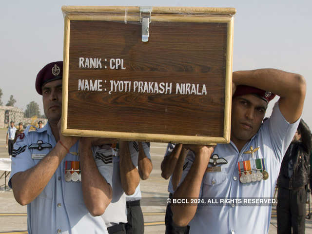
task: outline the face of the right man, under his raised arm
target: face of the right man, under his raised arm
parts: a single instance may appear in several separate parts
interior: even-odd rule
[[[245,144],[259,130],[268,104],[253,94],[232,100],[231,140]]]

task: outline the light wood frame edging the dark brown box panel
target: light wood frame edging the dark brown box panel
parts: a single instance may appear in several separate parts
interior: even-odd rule
[[[172,142],[184,144],[229,143],[231,135],[232,106],[232,65],[233,65],[233,28],[235,8],[210,7],[153,7],[151,20],[166,22],[218,22],[227,23],[227,55],[225,78],[225,105],[223,137],[181,136],[165,134],[144,134],[128,132],[108,132],[94,130],[77,130],[67,128],[68,110],[68,73],[69,41],[71,20],[101,21],[139,21],[139,7],[136,6],[63,6],[64,14],[64,65],[63,65],[63,99],[61,132],[65,136],[108,137],[121,140],[139,140],[151,142]],[[108,13],[116,15],[107,15]],[[188,13],[188,15],[182,15]],[[179,14],[179,15],[177,15]]]

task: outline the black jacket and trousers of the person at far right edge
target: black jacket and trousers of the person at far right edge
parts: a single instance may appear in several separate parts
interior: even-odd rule
[[[292,142],[277,179],[277,233],[304,234],[307,186],[310,179],[311,132],[301,119],[301,141]]]

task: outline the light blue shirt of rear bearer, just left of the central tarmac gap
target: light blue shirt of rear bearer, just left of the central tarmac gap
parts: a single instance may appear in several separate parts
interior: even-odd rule
[[[151,159],[150,155],[150,143],[142,142],[143,150],[147,158]],[[130,141],[129,142],[129,150],[131,155],[132,163],[135,167],[137,167],[137,160],[138,160],[138,142],[137,141]],[[142,198],[140,184],[137,185],[136,191],[133,195],[126,195],[127,201],[136,201]]]

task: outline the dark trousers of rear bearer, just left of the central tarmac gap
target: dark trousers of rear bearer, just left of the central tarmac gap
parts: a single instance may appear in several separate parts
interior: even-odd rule
[[[127,201],[127,221],[125,228],[127,234],[143,234],[144,219],[140,201]]]

